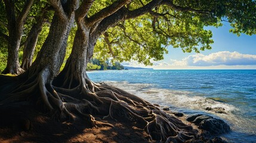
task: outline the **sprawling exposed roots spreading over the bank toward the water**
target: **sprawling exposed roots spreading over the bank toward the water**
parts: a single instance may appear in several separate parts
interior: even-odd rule
[[[42,70],[38,76],[16,82],[15,90],[10,88],[11,92],[1,95],[0,105],[30,101],[57,119],[82,120],[89,127],[112,126],[101,120],[129,122],[144,129],[152,140],[157,141],[184,142],[197,138],[198,131],[192,126],[185,125],[181,120],[135,95],[112,86],[93,83],[89,79],[84,80],[85,84],[65,83],[77,85],[75,87],[53,86],[45,80],[48,73],[48,70]]]

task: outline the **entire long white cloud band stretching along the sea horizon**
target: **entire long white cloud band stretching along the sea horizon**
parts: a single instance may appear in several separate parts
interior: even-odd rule
[[[221,51],[209,55],[189,55],[182,60],[170,59],[152,61],[153,69],[256,69],[256,55],[240,54],[239,52]],[[124,66],[145,67],[137,61],[122,63]]]

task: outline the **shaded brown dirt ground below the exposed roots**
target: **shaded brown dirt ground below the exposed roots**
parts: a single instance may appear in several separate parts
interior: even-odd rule
[[[129,123],[109,120],[113,127],[88,128],[61,122],[32,107],[0,107],[0,142],[150,142],[149,135]]]

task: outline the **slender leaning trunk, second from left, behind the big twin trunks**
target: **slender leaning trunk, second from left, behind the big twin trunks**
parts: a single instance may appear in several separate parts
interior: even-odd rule
[[[23,57],[21,63],[21,69],[27,70],[32,64],[33,55],[35,52],[36,42],[38,41],[38,36],[42,30],[44,21],[39,19],[35,24],[33,24],[30,29],[29,35],[27,35],[26,42],[24,43]]]

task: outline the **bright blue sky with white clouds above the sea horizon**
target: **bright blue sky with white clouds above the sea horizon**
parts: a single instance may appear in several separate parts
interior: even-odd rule
[[[124,66],[150,67],[153,69],[256,69],[256,35],[237,36],[229,32],[229,23],[222,27],[206,27],[212,31],[214,43],[211,50],[184,53],[181,48],[168,46],[168,54],[162,61],[152,61],[153,66],[144,66],[135,61]]]

